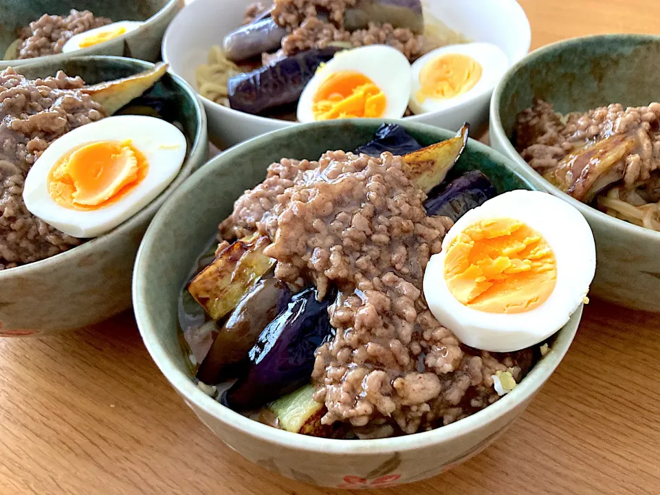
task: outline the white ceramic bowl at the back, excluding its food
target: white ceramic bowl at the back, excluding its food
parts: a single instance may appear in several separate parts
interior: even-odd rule
[[[163,59],[171,70],[197,87],[195,68],[206,63],[208,50],[222,45],[225,34],[243,23],[245,7],[252,0],[195,0],[181,10],[170,24],[163,39]],[[270,1],[262,3],[268,4]],[[516,0],[433,0],[425,8],[450,28],[472,41],[493,43],[509,57],[511,64],[529,51],[529,21]],[[491,92],[467,101],[453,109],[414,115],[406,122],[420,122],[458,129],[470,122],[472,135],[485,130]],[[208,115],[209,137],[220,148],[233,146],[250,137],[294,125],[294,122],[250,115],[223,107],[202,98]]]

